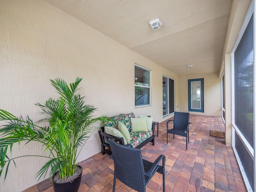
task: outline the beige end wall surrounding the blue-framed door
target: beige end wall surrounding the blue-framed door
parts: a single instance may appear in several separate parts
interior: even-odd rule
[[[218,73],[207,73],[180,77],[180,111],[188,112],[188,79],[204,78],[204,113],[197,115],[221,116],[221,79]]]

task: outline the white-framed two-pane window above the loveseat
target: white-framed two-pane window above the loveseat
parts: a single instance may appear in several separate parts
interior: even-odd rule
[[[150,105],[150,70],[135,65],[135,107]]]

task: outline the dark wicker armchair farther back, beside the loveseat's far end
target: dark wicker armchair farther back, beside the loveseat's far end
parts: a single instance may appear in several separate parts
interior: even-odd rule
[[[168,129],[169,123],[173,121],[173,129]],[[174,120],[169,120],[166,123],[167,125],[167,145],[168,145],[168,133],[174,135],[180,135],[186,137],[186,151],[188,150],[188,143],[189,143],[189,113],[182,113],[182,112],[174,112]]]

